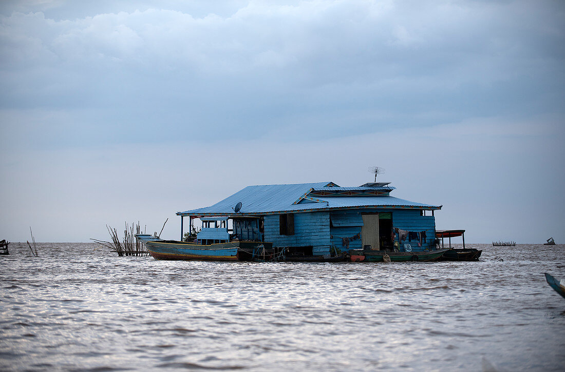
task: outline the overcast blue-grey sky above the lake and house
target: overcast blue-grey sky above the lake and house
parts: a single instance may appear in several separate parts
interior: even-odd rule
[[[0,61],[0,239],[378,165],[466,242],[565,243],[562,1],[5,0]]]

